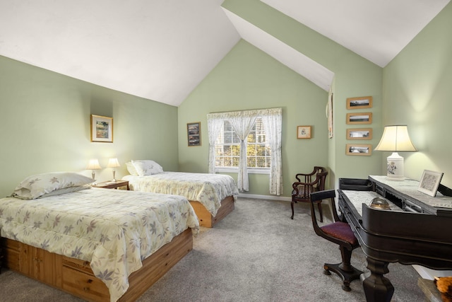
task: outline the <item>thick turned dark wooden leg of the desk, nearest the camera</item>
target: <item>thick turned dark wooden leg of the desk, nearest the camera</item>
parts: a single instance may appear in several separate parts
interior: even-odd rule
[[[383,276],[389,272],[388,265],[388,262],[367,257],[367,268],[370,269],[371,274],[362,281],[367,302],[391,301],[394,286],[388,278]]]

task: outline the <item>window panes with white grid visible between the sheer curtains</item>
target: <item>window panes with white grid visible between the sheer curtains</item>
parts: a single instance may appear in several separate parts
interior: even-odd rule
[[[253,129],[247,137],[247,167],[253,170],[270,168],[270,146],[266,142],[261,117],[256,119]],[[224,121],[215,142],[215,170],[236,170],[239,166],[240,139],[232,129],[230,122]]]

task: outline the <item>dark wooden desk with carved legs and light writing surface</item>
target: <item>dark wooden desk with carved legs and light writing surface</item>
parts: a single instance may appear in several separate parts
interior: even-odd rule
[[[371,191],[338,190],[338,206],[367,258],[367,301],[391,301],[394,287],[383,276],[390,262],[452,269],[452,197],[418,192],[415,180],[369,180]],[[388,200],[391,210],[369,207],[375,197]]]

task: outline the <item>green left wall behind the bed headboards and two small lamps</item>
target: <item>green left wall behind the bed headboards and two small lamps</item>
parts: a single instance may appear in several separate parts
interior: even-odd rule
[[[0,197],[28,175],[85,170],[90,158],[112,179],[109,157],[150,159],[177,170],[177,108],[119,93],[0,56]],[[113,117],[114,142],[90,142],[90,115]]]

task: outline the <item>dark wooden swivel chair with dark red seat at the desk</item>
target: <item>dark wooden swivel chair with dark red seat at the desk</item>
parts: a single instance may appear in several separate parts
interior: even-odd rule
[[[349,224],[340,221],[336,212],[334,197],[334,190],[314,192],[311,194],[312,225],[317,235],[339,245],[340,255],[342,256],[342,262],[336,265],[325,263],[323,265],[323,273],[331,274],[330,271],[335,272],[343,279],[342,289],[344,291],[351,291],[350,282],[359,279],[359,276],[362,274],[362,271],[352,267],[350,264],[352,251],[355,248],[359,248],[359,243]],[[330,200],[334,222],[325,226],[319,226],[316,219],[316,211],[314,211],[314,204],[318,204],[323,199]]]

